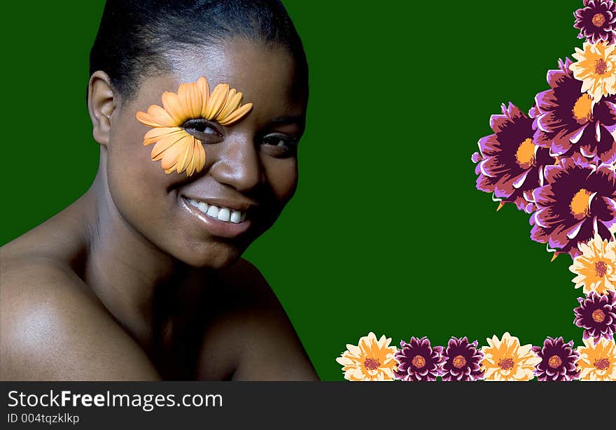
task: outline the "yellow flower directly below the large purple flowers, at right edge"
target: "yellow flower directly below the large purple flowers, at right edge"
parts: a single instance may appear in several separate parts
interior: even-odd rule
[[[582,254],[569,266],[569,270],[577,275],[572,280],[575,288],[584,287],[584,294],[616,291],[616,241],[595,234],[591,241],[579,243],[577,248]]]

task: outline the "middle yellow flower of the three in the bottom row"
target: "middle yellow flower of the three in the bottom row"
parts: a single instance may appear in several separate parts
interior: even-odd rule
[[[487,341],[489,346],[482,347],[484,358],[481,361],[485,380],[527,381],[534,378],[535,366],[541,359],[533,352],[533,345],[520,346],[519,339],[507,332],[502,341],[496,335]]]

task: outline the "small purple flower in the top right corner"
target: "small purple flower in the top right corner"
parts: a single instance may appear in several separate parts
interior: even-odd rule
[[[611,45],[616,33],[616,8],[612,0],[584,0],[585,8],[575,10],[575,24],[580,29],[577,38],[586,38],[590,43],[603,41]]]

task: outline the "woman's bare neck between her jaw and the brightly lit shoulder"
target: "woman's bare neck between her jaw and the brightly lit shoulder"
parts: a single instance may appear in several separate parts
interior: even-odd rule
[[[147,349],[155,336],[155,320],[160,318],[154,315],[155,304],[160,306],[157,297],[162,294],[170,299],[168,294],[190,272],[188,266],[156,248],[123,219],[111,199],[103,163],[85,197],[92,213],[87,217],[90,250],[84,280]],[[171,313],[172,300],[163,302],[167,307],[163,312]]]

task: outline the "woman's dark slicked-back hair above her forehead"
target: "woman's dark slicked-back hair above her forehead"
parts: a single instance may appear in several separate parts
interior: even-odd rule
[[[306,80],[302,41],[279,0],[107,0],[90,51],[90,76],[105,71],[130,99],[139,78],[169,71],[167,52],[234,36],[287,48],[297,78]]]

